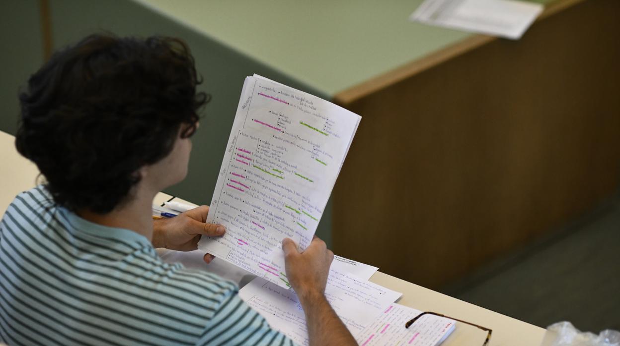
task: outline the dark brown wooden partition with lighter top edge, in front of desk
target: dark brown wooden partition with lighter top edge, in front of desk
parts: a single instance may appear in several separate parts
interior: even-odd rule
[[[338,95],[362,120],[334,189],[335,253],[434,288],[612,196],[619,13],[564,1],[520,41],[475,37]]]

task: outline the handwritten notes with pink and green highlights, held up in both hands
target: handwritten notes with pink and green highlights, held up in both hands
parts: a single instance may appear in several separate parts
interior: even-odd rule
[[[198,248],[288,287],[281,241],[308,246],[360,116],[260,76],[247,77]]]

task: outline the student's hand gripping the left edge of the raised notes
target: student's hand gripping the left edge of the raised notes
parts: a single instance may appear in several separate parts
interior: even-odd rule
[[[153,221],[154,248],[166,248],[179,251],[198,249],[201,235],[221,236],[226,232],[223,225],[205,223],[209,214],[208,205],[187,210],[175,217]],[[205,262],[211,262],[215,256],[205,254]]]

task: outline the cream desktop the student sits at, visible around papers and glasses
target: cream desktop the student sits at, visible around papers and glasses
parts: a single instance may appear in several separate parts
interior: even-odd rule
[[[4,210],[16,194],[35,186],[38,170],[35,165],[17,153],[14,137],[2,131],[0,131],[0,160],[0,215],[4,215]],[[161,204],[170,197],[172,196],[160,193],[156,196],[155,202]],[[391,290],[402,292],[403,295],[399,301],[402,305],[422,311],[443,313],[446,316],[492,329],[490,345],[493,346],[546,345],[552,337],[552,335],[545,336],[545,329],[541,327],[480,308],[381,272],[376,272],[370,280]],[[532,309],[535,308],[535,306],[532,307]],[[442,345],[479,346],[482,345],[485,336],[484,332],[475,327],[457,324],[456,330]]]

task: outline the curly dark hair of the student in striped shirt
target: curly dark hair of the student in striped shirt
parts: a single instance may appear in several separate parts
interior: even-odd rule
[[[110,212],[138,170],[192,136],[210,96],[179,38],[91,35],[57,51],[19,95],[15,147],[45,176],[56,204]]]

